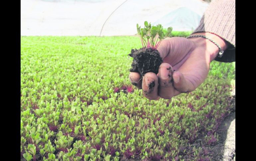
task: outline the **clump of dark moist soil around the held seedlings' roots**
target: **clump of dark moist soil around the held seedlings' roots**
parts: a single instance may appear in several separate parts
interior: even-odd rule
[[[148,72],[157,74],[159,66],[163,62],[159,51],[152,48],[132,49],[128,55],[133,58],[130,72],[138,72],[141,76]]]

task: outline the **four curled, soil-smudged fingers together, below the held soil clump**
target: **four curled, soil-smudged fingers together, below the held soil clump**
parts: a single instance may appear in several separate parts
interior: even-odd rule
[[[186,80],[179,71],[173,71],[168,63],[162,63],[158,76],[155,73],[146,73],[143,78],[137,72],[130,72],[129,79],[138,89],[143,90],[143,95],[150,100],[171,99],[180,93],[191,92],[194,85]]]

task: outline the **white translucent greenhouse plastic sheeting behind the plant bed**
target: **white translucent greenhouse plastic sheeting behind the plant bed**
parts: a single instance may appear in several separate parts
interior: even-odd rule
[[[22,36],[135,35],[136,24],[192,31],[209,4],[201,0],[21,0]]]

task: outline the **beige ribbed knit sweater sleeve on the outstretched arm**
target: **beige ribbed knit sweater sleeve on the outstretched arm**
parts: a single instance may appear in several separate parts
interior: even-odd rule
[[[231,44],[216,61],[235,61],[235,0],[213,0],[193,33],[209,32]]]

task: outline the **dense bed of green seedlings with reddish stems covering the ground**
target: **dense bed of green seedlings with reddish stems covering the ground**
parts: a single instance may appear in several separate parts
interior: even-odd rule
[[[21,37],[21,159],[211,159],[235,63],[212,62],[195,91],[150,101],[124,70],[139,46],[138,37]]]

